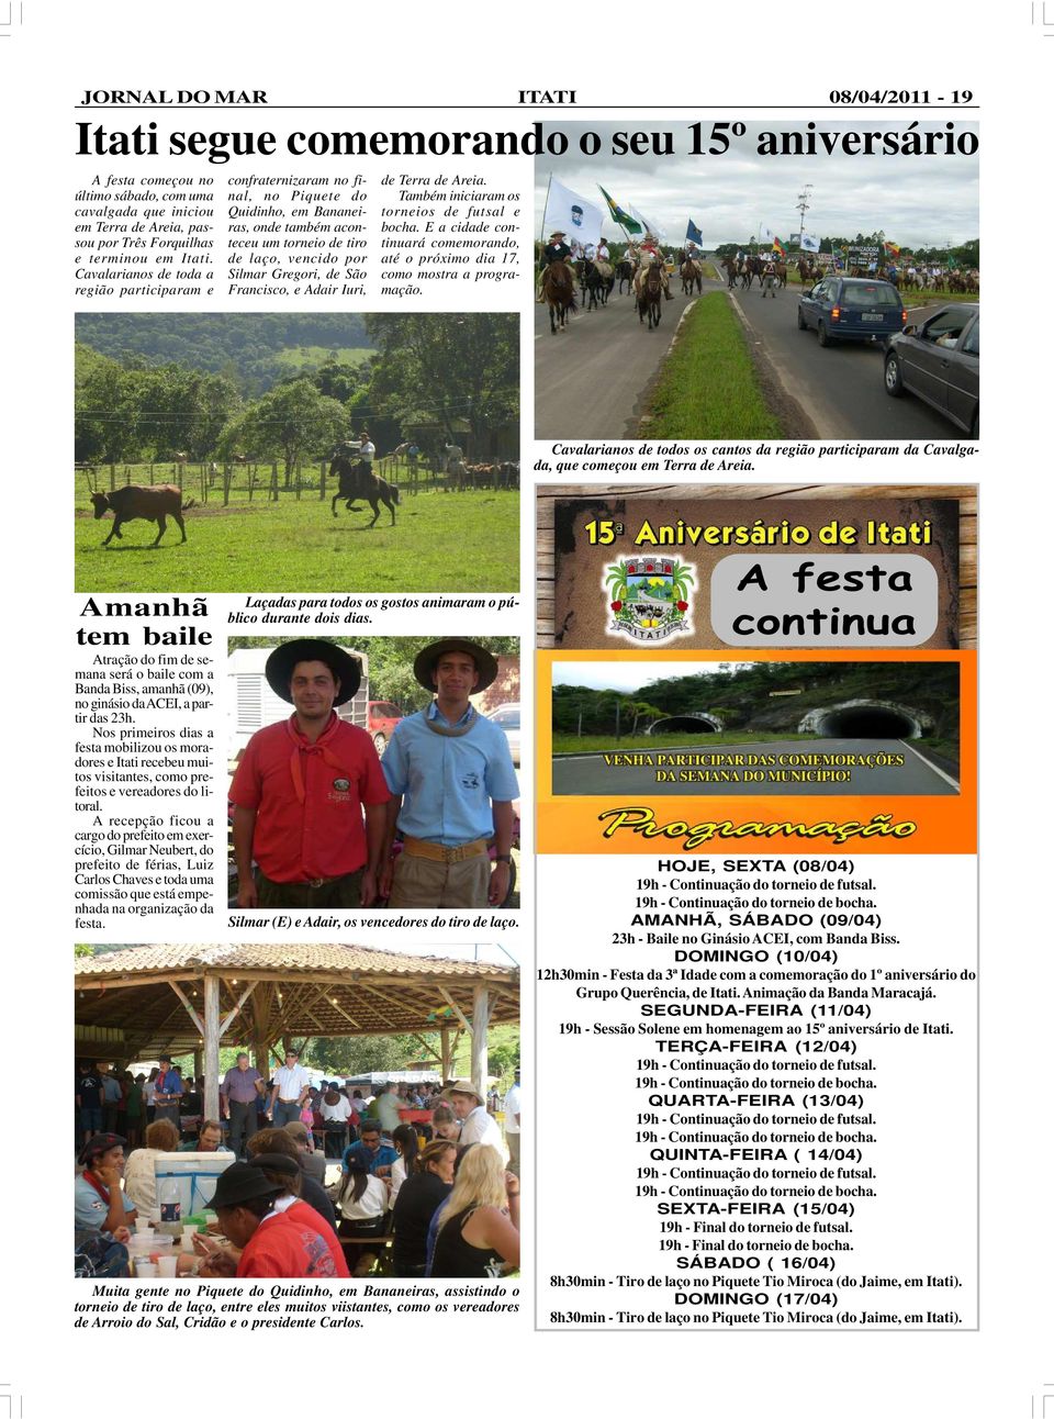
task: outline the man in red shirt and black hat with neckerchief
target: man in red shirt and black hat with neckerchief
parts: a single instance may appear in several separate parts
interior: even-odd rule
[[[373,739],[333,708],[355,697],[359,661],[292,640],[264,673],[294,714],[253,735],[231,783],[238,905],[370,907],[389,792]]]

